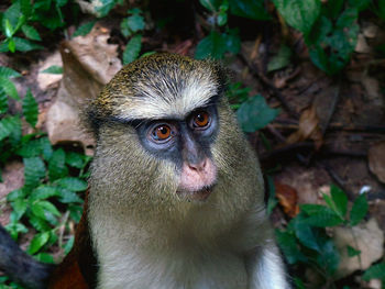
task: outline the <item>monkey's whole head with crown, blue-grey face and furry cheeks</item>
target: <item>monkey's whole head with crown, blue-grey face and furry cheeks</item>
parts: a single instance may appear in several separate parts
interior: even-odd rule
[[[120,70],[88,108],[97,136],[91,194],[94,188],[106,201],[144,202],[148,210],[242,203],[254,198],[243,196],[248,186],[260,196],[257,160],[226,87],[217,63],[173,54]]]

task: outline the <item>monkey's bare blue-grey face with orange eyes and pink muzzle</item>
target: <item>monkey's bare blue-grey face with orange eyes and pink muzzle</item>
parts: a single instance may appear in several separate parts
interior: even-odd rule
[[[215,99],[184,119],[147,121],[135,127],[147,152],[177,167],[176,193],[180,198],[205,200],[209,197],[217,180],[217,166],[211,155],[218,133]]]

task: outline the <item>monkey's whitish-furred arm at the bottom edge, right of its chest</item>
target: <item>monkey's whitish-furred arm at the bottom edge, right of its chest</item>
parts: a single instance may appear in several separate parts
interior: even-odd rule
[[[246,256],[249,289],[290,289],[275,244],[253,249]]]

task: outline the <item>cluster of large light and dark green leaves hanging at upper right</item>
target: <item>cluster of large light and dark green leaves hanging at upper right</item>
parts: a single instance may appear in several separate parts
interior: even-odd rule
[[[369,7],[369,0],[273,2],[285,21],[304,33],[310,58],[318,68],[331,76],[349,63],[360,31],[359,13]]]

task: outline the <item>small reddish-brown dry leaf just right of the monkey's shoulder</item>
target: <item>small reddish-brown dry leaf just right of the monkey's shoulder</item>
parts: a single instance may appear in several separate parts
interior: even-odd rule
[[[299,213],[296,189],[280,182],[275,182],[274,186],[275,196],[277,197],[279,204],[283,207],[284,212],[290,218],[296,216]]]

